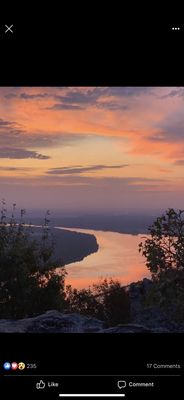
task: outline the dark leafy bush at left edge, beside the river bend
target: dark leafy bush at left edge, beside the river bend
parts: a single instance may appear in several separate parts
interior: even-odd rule
[[[2,201],[0,223],[0,317],[22,318],[48,309],[62,310],[65,269],[57,275],[52,259],[53,243],[49,234],[49,211],[46,212],[40,241],[31,225],[24,221],[25,210],[15,219],[16,204],[7,218]]]

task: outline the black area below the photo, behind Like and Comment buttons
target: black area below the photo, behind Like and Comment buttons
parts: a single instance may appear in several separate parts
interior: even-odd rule
[[[7,398],[15,393],[21,396],[30,393],[34,398],[58,398],[58,389],[52,392],[50,389],[41,392],[35,389],[40,379],[59,381],[64,393],[118,393],[119,379],[154,381],[154,389],[126,388],[126,398],[141,396],[142,399],[172,399],[176,395],[177,399],[183,398],[183,334],[2,334],[0,339],[0,390],[2,393],[6,391]],[[36,363],[37,369],[26,369],[25,372],[4,371],[5,361]],[[147,363],[180,364],[181,369],[150,371],[146,367]],[[21,377],[24,373],[38,376]],[[6,376],[3,377],[3,374]],[[10,374],[20,376],[7,377]],[[149,374],[158,376],[146,376]],[[182,376],[162,377],[162,374]],[[52,378],[52,375],[63,377]]]

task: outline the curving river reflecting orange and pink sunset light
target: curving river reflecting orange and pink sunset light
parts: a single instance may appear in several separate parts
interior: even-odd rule
[[[96,253],[66,266],[66,284],[81,289],[103,278],[112,277],[127,285],[150,277],[145,259],[138,252],[138,244],[144,234],[131,235],[65,227],[57,229],[93,234],[99,245]]]

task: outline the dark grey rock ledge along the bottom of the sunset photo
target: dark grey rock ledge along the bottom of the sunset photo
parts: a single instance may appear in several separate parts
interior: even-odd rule
[[[42,315],[19,320],[0,320],[0,333],[164,333],[165,326],[146,324],[119,324],[106,328],[103,321],[77,313],[65,314],[52,310]],[[184,332],[184,329],[183,329]]]

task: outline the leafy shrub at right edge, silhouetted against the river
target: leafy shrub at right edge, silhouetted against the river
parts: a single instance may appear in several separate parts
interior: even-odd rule
[[[157,304],[168,318],[184,321],[184,211],[170,208],[149,228],[150,238],[139,244],[152,274],[147,304]]]

